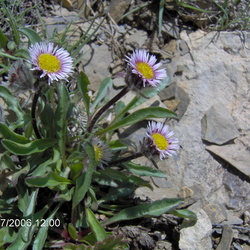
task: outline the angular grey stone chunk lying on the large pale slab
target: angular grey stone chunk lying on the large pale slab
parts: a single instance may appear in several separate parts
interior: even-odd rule
[[[213,105],[201,120],[202,138],[211,143],[224,144],[239,136],[234,121],[222,104]]]

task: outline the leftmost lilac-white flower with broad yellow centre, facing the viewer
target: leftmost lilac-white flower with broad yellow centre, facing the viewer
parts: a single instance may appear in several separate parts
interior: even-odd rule
[[[35,43],[29,48],[32,70],[42,71],[40,77],[48,76],[48,83],[53,80],[66,80],[73,72],[73,61],[69,53],[54,47],[53,43]]]

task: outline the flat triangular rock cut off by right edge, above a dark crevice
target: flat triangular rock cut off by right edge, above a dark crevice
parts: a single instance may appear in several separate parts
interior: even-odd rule
[[[241,145],[207,146],[206,149],[250,177],[250,152]]]

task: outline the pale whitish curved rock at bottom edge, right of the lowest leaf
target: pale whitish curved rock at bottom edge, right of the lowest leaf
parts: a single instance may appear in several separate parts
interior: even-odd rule
[[[197,215],[194,226],[180,230],[179,248],[181,250],[211,250],[212,223],[206,212],[197,208],[193,210]]]

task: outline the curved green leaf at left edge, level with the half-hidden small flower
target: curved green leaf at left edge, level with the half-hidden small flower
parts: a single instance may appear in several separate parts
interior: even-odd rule
[[[16,143],[11,140],[3,139],[2,145],[12,154],[16,155],[30,155],[34,153],[43,152],[47,148],[55,145],[54,139],[37,139],[29,143]]]

